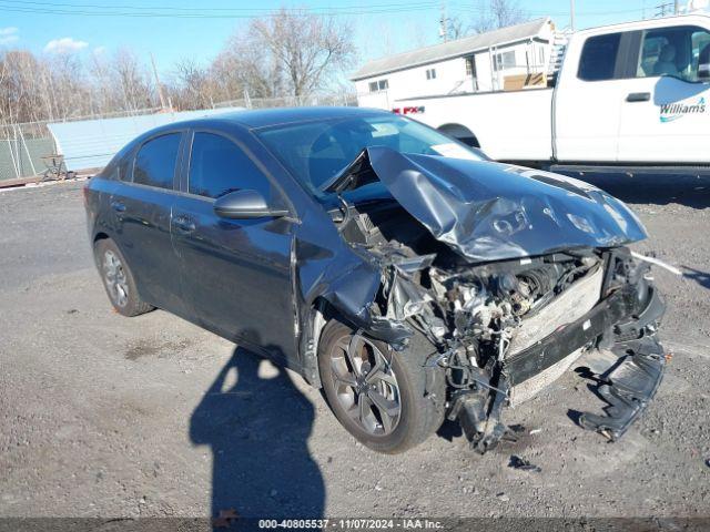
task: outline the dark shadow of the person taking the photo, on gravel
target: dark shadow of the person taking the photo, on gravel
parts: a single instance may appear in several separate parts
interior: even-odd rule
[[[212,451],[215,528],[235,515],[323,514],[325,485],[307,447],[314,419],[286,370],[234,350],[190,422],[192,442]]]

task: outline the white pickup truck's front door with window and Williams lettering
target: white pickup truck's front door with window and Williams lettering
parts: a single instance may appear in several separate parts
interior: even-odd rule
[[[636,32],[639,52],[623,86],[620,162],[709,163],[710,83],[698,75],[710,32],[677,25]],[[704,59],[707,61],[707,59]]]

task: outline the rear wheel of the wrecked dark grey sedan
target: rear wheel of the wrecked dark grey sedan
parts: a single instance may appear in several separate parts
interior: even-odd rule
[[[93,254],[103,287],[116,313],[132,317],[153,310],[154,307],[138,295],[133,273],[111,238],[98,241]]]

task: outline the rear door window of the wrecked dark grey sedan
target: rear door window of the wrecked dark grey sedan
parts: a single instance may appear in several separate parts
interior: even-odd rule
[[[181,136],[169,133],[143,144],[135,156],[133,183],[172,190]]]

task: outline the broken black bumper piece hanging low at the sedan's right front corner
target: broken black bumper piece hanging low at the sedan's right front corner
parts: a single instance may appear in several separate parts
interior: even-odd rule
[[[656,395],[666,369],[666,356],[653,337],[622,342],[612,351],[627,355],[621,355],[619,361],[600,377],[604,383],[597,391],[609,403],[605,408],[607,416],[582,413],[579,424],[616,441]]]

